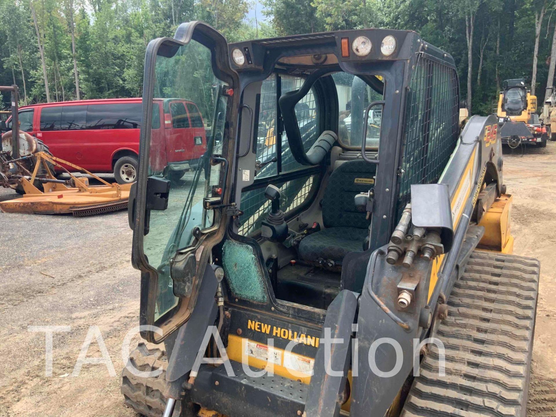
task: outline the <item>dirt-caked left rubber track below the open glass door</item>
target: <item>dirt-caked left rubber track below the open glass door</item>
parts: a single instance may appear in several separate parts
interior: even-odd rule
[[[152,345],[155,346],[155,345]],[[166,407],[166,398],[162,395],[166,387],[166,368],[168,361],[166,351],[157,347],[147,347],[143,342],[130,354],[130,363],[142,372],[162,368],[162,373],[151,378],[133,375],[130,370],[122,370],[121,391],[125,405],[140,415],[162,417]],[[172,417],[180,415],[180,404],[176,404]]]

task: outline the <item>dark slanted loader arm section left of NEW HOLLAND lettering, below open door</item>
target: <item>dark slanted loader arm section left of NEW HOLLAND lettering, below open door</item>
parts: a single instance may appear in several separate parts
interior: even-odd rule
[[[214,274],[214,267],[210,265],[205,268],[195,309],[190,319],[177,332],[168,361],[167,381],[175,381],[191,371],[207,327],[213,325],[216,320],[217,308],[214,297],[218,281]]]

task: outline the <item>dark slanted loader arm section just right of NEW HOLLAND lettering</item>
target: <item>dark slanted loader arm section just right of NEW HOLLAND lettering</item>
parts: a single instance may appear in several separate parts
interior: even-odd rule
[[[315,357],[315,368],[309,385],[305,403],[306,417],[332,417],[340,414],[347,369],[351,360],[351,327],[357,310],[357,296],[343,290],[336,296],[326,311],[322,326],[321,343]],[[330,329],[331,339],[343,339],[341,343],[330,344],[330,358],[325,362],[325,329]],[[326,367],[340,375],[330,375]]]

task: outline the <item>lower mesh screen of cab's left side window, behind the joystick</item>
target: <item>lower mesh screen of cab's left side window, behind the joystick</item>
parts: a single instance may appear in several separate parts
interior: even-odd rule
[[[310,195],[315,176],[301,177],[296,180],[275,184],[280,188],[280,209],[287,213],[301,205]],[[241,193],[241,210],[244,214],[240,217],[241,225],[237,233],[249,235],[261,229],[261,221],[266,219],[270,212],[270,200],[265,197],[265,187]]]

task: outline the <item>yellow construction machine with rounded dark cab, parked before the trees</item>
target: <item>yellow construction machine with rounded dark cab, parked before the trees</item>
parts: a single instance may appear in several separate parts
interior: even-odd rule
[[[544,120],[537,115],[537,96],[525,87],[525,80],[505,80],[504,90],[498,99],[498,123],[503,145],[517,147],[520,144],[546,147],[549,132]],[[507,112],[506,106],[517,103],[519,111]],[[521,107],[524,108],[521,108]]]

